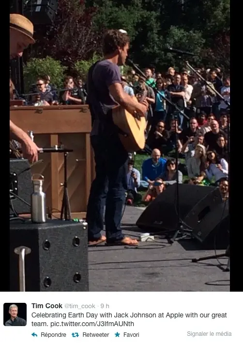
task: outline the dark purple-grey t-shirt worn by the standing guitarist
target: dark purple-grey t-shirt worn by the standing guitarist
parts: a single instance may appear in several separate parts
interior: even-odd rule
[[[117,106],[117,102],[110,95],[109,86],[115,83],[121,83],[118,65],[109,60],[102,60],[91,66],[87,83],[87,103],[90,106],[93,124],[91,135],[112,131],[112,115],[109,111]]]

